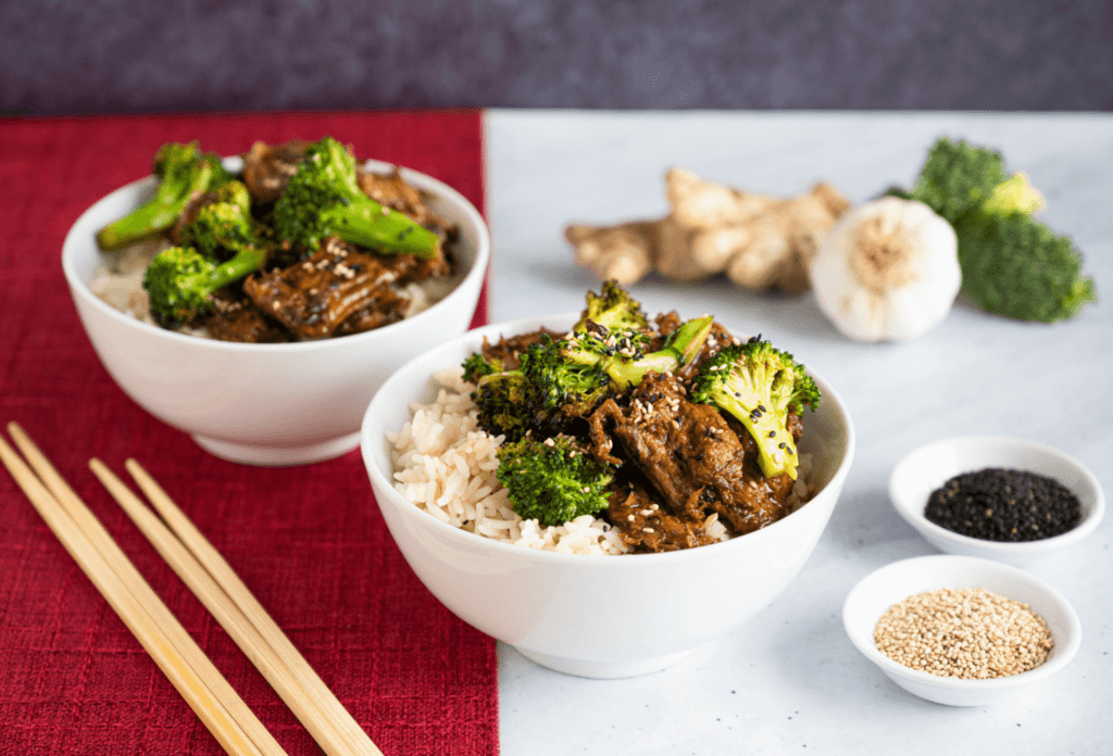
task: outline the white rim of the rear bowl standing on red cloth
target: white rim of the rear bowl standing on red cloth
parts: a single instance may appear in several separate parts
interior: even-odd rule
[[[236,166],[242,165],[242,159],[239,156],[229,156],[224,159],[226,167],[229,170]],[[87,207],[78,216],[77,220],[69,227],[66,231],[66,238],[62,241],[62,253],[61,253],[61,265],[62,275],[66,278],[69,289],[73,297],[80,297],[81,300],[95,308],[101,315],[109,317],[116,322],[124,325],[126,327],[138,328],[150,336],[157,336],[160,338],[169,339],[170,341],[178,341],[183,345],[193,345],[198,348],[216,349],[220,351],[230,352],[298,352],[298,351],[315,351],[321,349],[335,348],[337,345],[347,345],[349,347],[357,347],[364,341],[373,339],[388,338],[395,331],[406,328],[407,326],[424,322],[426,320],[435,320],[441,316],[443,308],[441,305],[456,296],[462,296],[462,292],[470,290],[471,288],[476,288],[482,290],[482,279],[486,277],[487,269],[491,263],[491,232],[487,228],[486,221],[480,215],[479,209],[472,202],[461,195],[456,189],[452,188],[447,183],[444,183],[440,179],[433,178],[427,173],[422,173],[421,171],[414,170],[412,168],[406,168],[405,166],[398,166],[396,163],[385,162],[382,160],[365,160],[363,161],[365,168],[375,170],[378,172],[385,172],[397,168],[398,172],[407,180],[416,185],[418,188],[429,191],[431,193],[441,195],[445,199],[459,206],[463,211],[464,217],[476,230],[476,245],[474,260],[472,261],[471,269],[465,276],[463,276],[456,285],[449,291],[444,298],[440,299],[431,307],[416,315],[393,322],[381,328],[375,328],[370,331],[364,331],[362,334],[353,334],[351,336],[344,336],[342,338],[335,339],[314,339],[308,341],[289,341],[280,344],[242,344],[237,341],[220,341],[217,339],[206,339],[197,336],[190,336],[188,334],[178,334],[176,331],[167,330],[165,328],[159,328],[149,322],[144,322],[142,320],[137,320],[136,318],[127,315],[126,312],[120,312],[115,307],[102,300],[100,297],[95,295],[89,288],[89,285],[78,276],[75,270],[73,256],[75,250],[78,245],[77,231],[80,226],[88,225],[88,220],[91,215],[98,209],[102,203],[109,202],[112,198],[128,192],[136,191],[144,188],[146,185],[154,186],[155,177],[145,176],[141,179],[137,179],[129,183],[118,187],[112,191],[108,192],[104,197],[100,197],[92,205]],[[83,229],[82,229],[83,231]],[[82,232],[83,236],[83,232]],[[96,243],[96,242],[93,242]],[[482,296],[482,295],[481,295]]]

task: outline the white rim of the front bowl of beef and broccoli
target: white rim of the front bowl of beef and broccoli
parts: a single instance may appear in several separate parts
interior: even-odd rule
[[[726,541],[720,541],[716,544],[708,544],[707,546],[700,546],[698,548],[679,549],[676,551],[663,551],[654,554],[623,554],[621,559],[615,559],[615,555],[605,554],[564,554],[561,551],[550,551],[533,548],[524,548],[522,546],[515,546],[514,544],[508,544],[503,541],[493,540],[490,538],[484,538],[483,536],[477,536],[473,533],[469,533],[462,528],[457,528],[449,523],[444,523],[427,511],[418,508],[413,503],[405,499],[401,494],[394,490],[392,481],[385,475],[385,471],[380,469],[380,466],[375,462],[372,451],[372,444],[387,444],[385,437],[372,439],[370,437],[372,418],[376,417],[378,412],[378,407],[386,401],[386,396],[394,389],[397,384],[410,380],[406,374],[421,367],[421,364],[425,361],[436,362],[437,358],[450,354],[464,344],[473,340],[482,339],[484,336],[493,336],[500,332],[506,334],[519,334],[528,332],[526,329],[532,330],[539,328],[545,322],[563,324],[563,322],[575,322],[580,317],[579,312],[563,312],[563,314],[551,314],[542,316],[531,316],[526,318],[518,318],[515,320],[508,320],[503,322],[489,324],[486,326],[481,326],[479,328],[473,328],[460,336],[450,339],[435,347],[434,349],[421,355],[405,365],[397,368],[378,388],[375,396],[372,398],[371,404],[364,414],[364,421],[359,429],[359,447],[361,456],[364,460],[364,467],[366,468],[368,475],[377,487],[386,490],[390,497],[388,506],[397,508],[407,518],[420,517],[418,521],[427,523],[430,527],[434,528],[434,533],[442,535],[447,538],[452,538],[454,541],[466,546],[471,545],[475,548],[493,548],[495,553],[501,553],[506,556],[518,556],[521,558],[529,559],[540,559],[540,560],[554,560],[556,563],[563,564],[575,564],[575,565],[614,565],[614,569],[630,568],[631,566],[644,563],[646,559],[653,559],[656,563],[666,564],[667,561],[679,561],[686,559],[697,559],[701,558],[700,554],[705,555],[703,558],[710,555],[717,555],[727,553],[729,549],[741,548],[739,544],[755,543],[758,539],[767,539],[775,537],[776,534],[780,533],[785,527],[788,527],[786,523],[795,515],[800,514],[807,509],[807,505],[801,507],[799,510],[792,513],[791,515],[781,518],[780,520],[772,523],[759,530],[746,534],[745,537],[731,538]],[[447,367],[443,365],[443,359],[441,367],[431,366],[433,370]],[[807,369],[807,368],[806,368]],[[854,421],[850,417],[850,412],[847,408],[846,402],[838,395],[838,392],[828,384],[821,376],[817,375],[815,371],[807,369],[807,372],[816,380],[821,390],[821,396],[827,399],[829,397],[830,405],[836,408],[836,415],[841,420],[841,426],[846,435],[846,454],[843,460],[839,462],[838,467],[831,474],[830,480],[824,486],[824,489],[819,491],[811,499],[815,501],[816,498],[823,496],[824,494],[840,490],[846,481],[846,477],[849,472],[850,466],[854,461],[855,450],[856,450],[856,431],[854,428]],[[426,382],[432,380],[432,375],[426,375]],[[396,432],[396,431],[395,431]],[[388,455],[388,451],[387,451]],[[384,503],[378,501],[380,496],[375,494],[375,500],[380,507],[385,506]],[[808,504],[811,504],[809,501]],[[836,501],[837,504],[837,501]],[[834,510],[834,505],[833,505]],[[780,526],[778,528],[778,526]],[[623,567],[626,565],[626,567]]]

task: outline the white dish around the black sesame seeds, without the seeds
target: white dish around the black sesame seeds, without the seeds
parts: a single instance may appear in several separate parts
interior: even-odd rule
[[[1077,526],[1058,536],[1024,543],[998,543],[964,536],[932,523],[924,508],[933,491],[961,472],[987,467],[1027,470],[1058,480],[1082,505]],[[1105,495],[1094,474],[1077,459],[1050,446],[1002,436],[963,436],[927,444],[902,459],[889,476],[889,497],[897,513],[940,551],[1032,564],[1072,546],[1091,533],[1105,514]]]

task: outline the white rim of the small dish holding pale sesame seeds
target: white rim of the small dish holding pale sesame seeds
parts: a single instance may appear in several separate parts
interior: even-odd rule
[[[860,625],[859,620],[861,619],[861,615],[865,609],[865,607],[861,606],[861,601],[864,600],[861,597],[873,588],[875,583],[886,578],[892,573],[912,573],[913,570],[926,570],[932,569],[933,567],[942,569],[947,565],[964,566],[966,568],[976,566],[983,570],[992,570],[998,575],[1006,575],[1027,584],[1028,587],[1037,590],[1051,603],[1055,604],[1057,609],[1066,618],[1067,636],[1065,641],[1061,644],[1061,639],[1055,638],[1055,655],[1038,667],[1028,669],[1027,672],[1009,675],[1007,677],[994,677],[989,679],[964,679],[961,677],[943,677],[940,675],[933,675],[932,673],[906,667],[899,662],[890,659],[873,643],[873,627],[876,626],[876,620],[870,625],[868,638],[863,637],[863,635],[857,631],[857,627]],[[913,588],[905,594],[904,598],[913,596],[916,593],[919,591]],[[897,601],[899,600],[903,600],[903,598],[897,599]],[[896,601],[894,601],[894,604],[895,603]],[[878,616],[878,619],[879,618],[880,616]],[[861,578],[847,594],[846,599],[843,603],[843,626],[847,636],[850,638],[850,643],[854,644],[863,656],[877,665],[886,674],[895,675],[923,686],[951,690],[983,690],[988,693],[1034,683],[1044,677],[1054,675],[1056,672],[1070,664],[1077,654],[1078,648],[1082,646],[1082,624],[1078,619],[1077,613],[1066,597],[1052,587],[1046,580],[1043,580],[1042,578],[1038,578],[1020,567],[1003,561],[957,554],[930,554],[927,556],[899,559],[873,570]]]

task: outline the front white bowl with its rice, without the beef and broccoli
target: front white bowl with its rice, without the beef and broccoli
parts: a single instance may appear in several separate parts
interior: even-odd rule
[[[823,395],[799,445],[810,494],[778,521],[657,554],[621,553],[590,516],[548,529],[522,523],[505,506],[498,440],[476,428],[460,366],[484,337],[568,330],[578,317],[479,328],[406,364],[371,401],[361,447],[398,548],[450,610],[551,669],[631,677],[676,664],[785,590],[830,519],[855,432],[839,396],[809,370]]]

